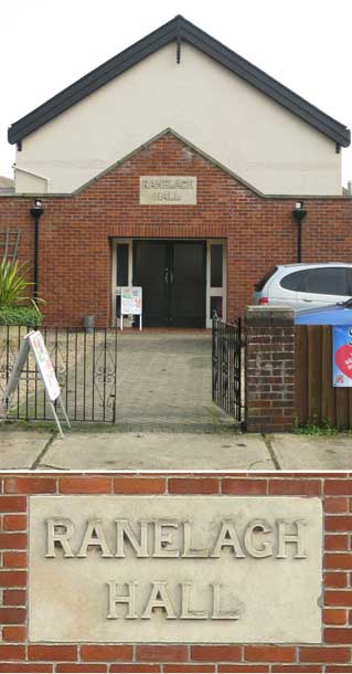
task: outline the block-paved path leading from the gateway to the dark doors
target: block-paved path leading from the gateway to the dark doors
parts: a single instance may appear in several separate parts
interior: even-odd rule
[[[212,403],[212,336],[128,331],[117,341],[117,419],[125,430],[212,431],[234,426]]]

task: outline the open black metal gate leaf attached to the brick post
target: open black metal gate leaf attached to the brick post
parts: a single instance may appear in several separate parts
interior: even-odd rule
[[[241,318],[224,323],[213,318],[212,397],[225,412],[242,420]]]

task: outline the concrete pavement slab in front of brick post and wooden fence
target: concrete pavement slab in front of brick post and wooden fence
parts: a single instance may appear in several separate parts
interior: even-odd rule
[[[281,471],[348,471],[352,468],[352,434],[275,434],[269,440]]]

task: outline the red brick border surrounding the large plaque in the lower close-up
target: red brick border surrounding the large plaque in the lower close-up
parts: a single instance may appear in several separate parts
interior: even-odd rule
[[[31,494],[231,494],[321,497],[320,645],[30,644],[26,515]],[[351,672],[352,476],[349,474],[0,476],[0,672]],[[302,620],[305,617],[302,615]]]

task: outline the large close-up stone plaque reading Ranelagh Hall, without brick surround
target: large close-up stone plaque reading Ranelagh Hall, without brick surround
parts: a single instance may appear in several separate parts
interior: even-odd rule
[[[31,496],[39,642],[317,643],[318,498]]]

